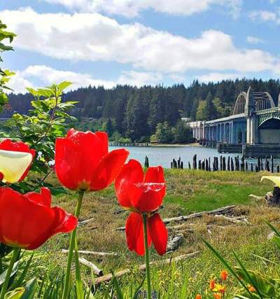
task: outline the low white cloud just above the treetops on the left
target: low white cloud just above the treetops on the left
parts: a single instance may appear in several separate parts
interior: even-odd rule
[[[73,85],[69,89],[72,90],[88,85],[113,88],[117,84],[136,86],[157,85],[162,82],[162,74],[124,71],[116,81],[107,81],[92,78],[90,74],[61,71],[45,65],[31,65],[23,71],[16,71],[15,76],[10,80],[9,86],[15,90],[15,93],[25,93],[27,87],[38,87],[35,86],[34,81],[39,81],[42,86],[62,81],[71,81]]]

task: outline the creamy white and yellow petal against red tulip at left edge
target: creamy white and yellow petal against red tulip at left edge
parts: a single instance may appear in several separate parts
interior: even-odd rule
[[[31,153],[0,150],[0,172],[3,174],[3,182],[16,183],[20,181],[32,159]]]

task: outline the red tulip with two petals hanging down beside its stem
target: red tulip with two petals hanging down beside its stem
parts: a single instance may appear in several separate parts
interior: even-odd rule
[[[130,160],[118,175],[115,189],[120,205],[132,211],[125,225],[128,248],[140,256],[144,255],[142,214],[147,214],[148,246],[153,242],[155,250],[160,255],[164,254],[167,248],[167,229],[158,214],[165,197],[162,167],[149,167],[144,175],[141,164],[137,160]]]

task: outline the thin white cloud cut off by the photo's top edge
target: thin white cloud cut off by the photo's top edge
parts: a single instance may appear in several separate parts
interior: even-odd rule
[[[62,4],[71,11],[100,12],[110,15],[125,15],[132,18],[151,8],[172,15],[193,15],[207,11],[211,5],[226,6],[237,17],[242,0],[45,0],[50,4]]]

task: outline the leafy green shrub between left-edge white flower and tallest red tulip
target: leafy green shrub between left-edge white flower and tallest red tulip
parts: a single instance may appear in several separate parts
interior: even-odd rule
[[[29,172],[31,179],[15,184],[13,188],[16,190],[27,192],[48,186],[53,194],[62,192],[62,188],[53,188],[49,183],[45,183],[45,179],[52,172],[50,164],[55,158],[55,139],[64,137],[69,121],[76,120],[68,111],[73,109],[77,102],[62,102],[62,93],[70,85],[70,82],[64,81],[37,90],[27,88],[34,97],[31,101],[32,109],[27,115],[14,113],[8,123],[8,134],[2,134],[3,137],[20,139],[36,150],[36,158]]]

